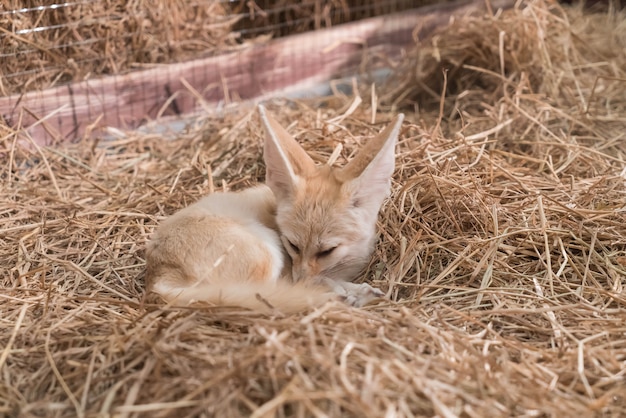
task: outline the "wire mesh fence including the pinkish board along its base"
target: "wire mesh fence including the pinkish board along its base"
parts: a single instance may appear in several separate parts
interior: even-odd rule
[[[78,140],[369,76],[393,66],[419,28],[477,5],[483,0],[0,2],[0,127],[28,128],[42,144]]]

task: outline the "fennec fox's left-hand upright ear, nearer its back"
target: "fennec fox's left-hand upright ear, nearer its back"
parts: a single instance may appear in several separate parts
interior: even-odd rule
[[[315,162],[296,140],[259,105],[265,128],[265,183],[278,199],[292,194],[294,187],[315,170]]]

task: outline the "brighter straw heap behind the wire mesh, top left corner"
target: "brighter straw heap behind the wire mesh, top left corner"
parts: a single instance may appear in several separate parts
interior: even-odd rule
[[[0,8],[1,95],[197,58],[237,45],[231,30],[238,18],[217,0],[5,3]]]

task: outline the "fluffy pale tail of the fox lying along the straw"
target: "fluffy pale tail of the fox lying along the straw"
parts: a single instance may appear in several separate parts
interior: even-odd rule
[[[156,282],[152,291],[174,306],[207,302],[218,306],[238,306],[259,312],[288,314],[337,300],[330,289],[302,283],[207,283],[190,286]]]

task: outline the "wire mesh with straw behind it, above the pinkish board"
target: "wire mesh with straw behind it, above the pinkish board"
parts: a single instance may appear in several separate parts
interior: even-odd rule
[[[0,94],[127,73],[433,0],[4,1]],[[303,46],[304,47],[304,46]]]

